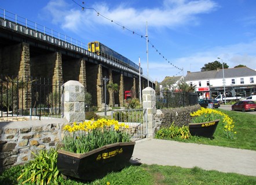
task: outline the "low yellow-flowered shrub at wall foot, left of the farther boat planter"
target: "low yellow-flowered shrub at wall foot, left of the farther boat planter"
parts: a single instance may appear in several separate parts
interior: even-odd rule
[[[170,127],[162,127],[160,128],[157,133],[155,134],[155,138],[157,139],[166,139],[166,138],[181,138],[181,139],[188,139],[191,137],[189,133],[188,126],[175,126],[174,122],[171,124]]]

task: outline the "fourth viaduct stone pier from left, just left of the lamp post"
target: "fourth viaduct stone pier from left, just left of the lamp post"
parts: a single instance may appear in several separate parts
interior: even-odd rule
[[[97,107],[103,108],[103,76],[102,76],[102,66],[98,65],[98,77],[97,77]]]

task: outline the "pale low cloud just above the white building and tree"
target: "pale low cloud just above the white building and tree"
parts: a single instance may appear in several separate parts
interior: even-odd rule
[[[173,59],[174,65],[184,67],[184,75],[187,71],[196,72],[204,66],[204,64],[214,61],[220,61],[218,57],[222,58],[223,62],[227,63],[229,68],[237,65],[245,65],[250,69],[256,69],[256,40],[248,43],[238,43],[222,47],[214,47],[211,50],[193,53],[189,56]],[[147,66],[142,66],[144,75],[147,75]],[[149,62],[149,76],[159,82],[163,81],[166,76],[182,75],[178,74],[180,70],[175,69],[172,65],[166,62],[150,61]]]

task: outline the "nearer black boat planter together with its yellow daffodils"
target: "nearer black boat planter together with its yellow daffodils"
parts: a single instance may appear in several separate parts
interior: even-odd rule
[[[66,125],[63,149],[58,150],[58,170],[83,180],[119,171],[129,162],[135,145],[128,129],[125,123],[107,119]]]

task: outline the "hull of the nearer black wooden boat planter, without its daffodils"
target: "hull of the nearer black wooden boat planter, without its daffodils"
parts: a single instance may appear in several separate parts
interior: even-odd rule
[[[129,163],[134,145],[135,142],[119,142],[82,154],[58,150],[57,168],[65,176],[82,180],[103,178]]]

